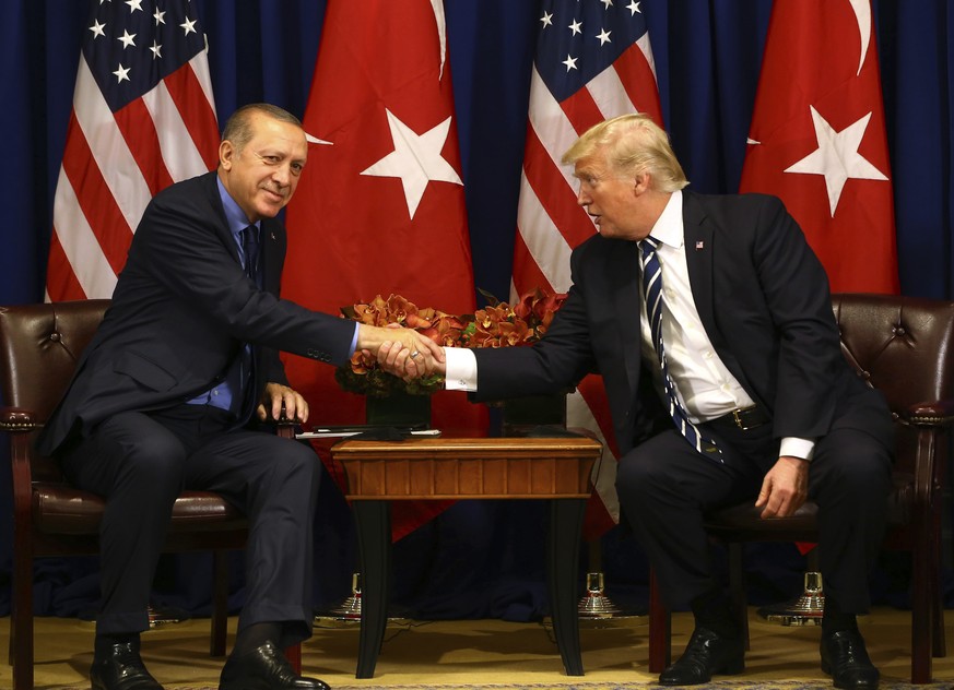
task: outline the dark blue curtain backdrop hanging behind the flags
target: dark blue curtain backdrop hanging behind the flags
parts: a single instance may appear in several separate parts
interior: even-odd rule
[[[209,37],[220,119],[257,100],[303,115],[326,1],[193,1]],[[537,4],[447,2],[475,282],[497,295],[509,285]],[[43,299],[54,189],[89,8],[80,0],[0,5],[5,20],[0,131],[7,154],[0,189],[8,209],[0,226],[0,304],[22,304]],[[950,298],[954,10],[947,0],[875,0],[874,5],[902,289]],[[641,8],[667,129],[693,188],[735,191],[772,0],[643,0]],[[9,606],[9,472],[0,469],[0,612]],[[315,586],[318,604],[330,605],[349,590],[355,549],[348,509],[331,481],[322,497]],[[396,600],[422,617],[539,616],[545,608],[538,550],[544,526],[539,505],[460,503],[398,544]],[[603,569],[611,593],[638,603],[646,563],[632,538],[619,532],[602,540]],[[793,548],[758,561],[756,598],[799,592],[803,563]],[[195,570],[205,566],[204,557],[164,560],[160,598],[203,610],[208,585]],[[904,605],[897,568],[883,563],[878,592],[882,600]],[[240,581],[239,563],[236,603]],[[95,597],[95,559],[47,561],[37,583],[38,611],[82,612]]]

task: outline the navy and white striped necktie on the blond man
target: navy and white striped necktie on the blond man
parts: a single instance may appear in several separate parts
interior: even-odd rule
[[[696,425],[690,421],[688,414],[679,402],[675,394],[675,384],[669,376],[669,366],[666,362],[666,349],[662,346],[662,267],[656,255],[659,240],[647,237],[639,242],[643,252],[643,294],[646,297],[646,314],[649,317],[649,331],[652,344],[656,346],[656,355],[659,357],[659,366],[662,368],[662,388],[669,398],[669,414],[676,429],[686,441],[699,453],[705,453],[714,460],[721,462],[721,454],[716,444],[699,432]]]

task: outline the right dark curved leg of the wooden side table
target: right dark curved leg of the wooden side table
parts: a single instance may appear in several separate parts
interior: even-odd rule
[[[551,501],[550,612],[556,646],[567,676],[582,676],[579,652],[579,540],[586,499]]]

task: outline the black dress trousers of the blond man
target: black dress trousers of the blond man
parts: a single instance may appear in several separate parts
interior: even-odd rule
[[[715,578],[706,512],[755,501],[778,457],[772,425],[742,431],[702,425],[725,463],[699,455],[667,430],[626,453],[616,475],[624,519],[656,570],[670,608],[686,608],[721,586]],[[892,453],[857,428],[836,428],[817,440],[809,468],[809,497],[818,503],[818,562],[828,597],[846,614],[870,606],[868,576],[884,535]]]

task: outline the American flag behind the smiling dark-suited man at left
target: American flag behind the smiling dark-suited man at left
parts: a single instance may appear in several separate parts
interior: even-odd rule
[[[49,301],[110,297],[150,199],[217,163],[219,126],[195,5],[92,5],[54,201]]]

